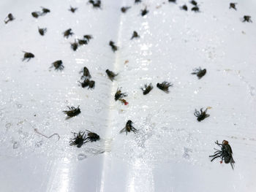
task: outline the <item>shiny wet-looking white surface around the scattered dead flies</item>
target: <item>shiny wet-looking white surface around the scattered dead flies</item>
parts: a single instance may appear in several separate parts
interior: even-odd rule
[[[0,18],[15,17],[0,24],[0,191],[256,190],[256,2],[236,1],[235,11],[229,1],[199,1],[199,13],[177,2],[113,0],[92,9],[82,0],[0,1]],[[32,18],[40,6],[51,12]],[[121,6],[132,8],[122,14]],[[254,23],[242,23],[244,15]],[[37,26],[48,28],[44,37]],[[75,35],[64,39],[67,28]],[[140,39],[131,41],[132,31]],[[94,39],[73,52],[69,42],[84,34]],[[22,62],[22,50],[35,58]],[[59,59],[64,71],[49,69]],[[83,66],[96,82],[92,91],[78,86]],[[207,69],[201,80],[190,74],[198,66]],[[118,72],[115,82],[106,69]],[[169,94],[156,87],[164,80],[174,84]],[[154,89],[143,96],[149,82]],[[118,87],[128,106],[114,101]],[[81,114],[65,120],[67,105],[80,105]],[[200,107],[212,108],[198,123]],[[118,134],[129,119],[138,134]],[[70,147],[70,131],[85,129],[102,139]],[[233,147],[234,170],[208,158],[223,139]]]

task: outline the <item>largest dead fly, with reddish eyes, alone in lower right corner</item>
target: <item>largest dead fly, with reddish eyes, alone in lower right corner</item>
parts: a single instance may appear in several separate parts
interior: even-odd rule
[[[233,159],[233,152],[232,152],[232,149],[230,147],[230,145],[228,144],[228,142],[226,140],[223,140],[222,144],[219,143],[218,141],[215,142],[219,147],[221,147],[221,150],[217,150],[214,148],[215,153],[214,155],[210,155],[209,157],[213,157],[211,159],[211,161],[214,161],[215,158],[221,158],[222,161],[224,159],[224,162],[225,164],[230,164],[232,169],[234,169],[234,164],[235,164],[235,161]],[[222,164],[222,161],[220,161],[220,163]]]

